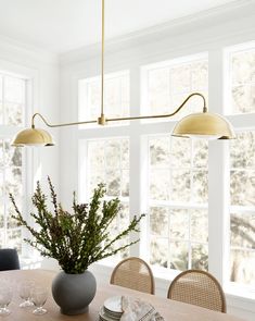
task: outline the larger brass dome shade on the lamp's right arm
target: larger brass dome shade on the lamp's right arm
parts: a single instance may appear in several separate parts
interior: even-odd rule
[[[221,115],[200,112],[181,119],[176,124],[171,136],[231,139],[234,138],[234,131],[229,121]]]

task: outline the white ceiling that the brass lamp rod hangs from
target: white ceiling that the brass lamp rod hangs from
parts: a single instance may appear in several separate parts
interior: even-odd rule
[[[105,0],[113,38],[237,0]],[[0,0],[0,36],[52,52],[95,44],[101,0]]]

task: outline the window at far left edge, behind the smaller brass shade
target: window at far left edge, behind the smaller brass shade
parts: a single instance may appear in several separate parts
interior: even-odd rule
[[[0,247],[22,249],[22,229],[11,219],[9,193],[20,208],[24,194],[23,152],[10,146],[13,126],[24,124],[26,81],[0,74]]]

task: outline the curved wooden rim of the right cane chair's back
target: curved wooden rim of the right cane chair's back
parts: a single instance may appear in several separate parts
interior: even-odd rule
[[[218,280],[212,275],[209,272],[206,272],[206,271],[202,271],[202,270],[195,270],[195,269],[191,269],[191,270],[187,270],[187,271],[183,271],[181,272],[180,274],[178,274],[170,283],[170,286],[168,288],[168,292],[167,292],[167,298],[168,299],[171,299],[171,295],[173,295],[173,292],[174,292],[174,287],[175,287],[175,284],[176,282],[181,279],[183,275],[186,274],[190,274],[190,273],[200,273],[200,274],[204,274],[206,276],[208,276],[211,280],[213,280],[213,282],[215,283],[216,287],[218,288],[219,291],[219,295],[220,295],[220,299],[221,299],[221,312],[222,313],[226,313],[227,312],[227,304],[226,304],[226,297],[225,297],[225,293],[222,291],[222,287],[220,285],[220,283],[218,282]],[[188,304],[188,303],[187,303]]]

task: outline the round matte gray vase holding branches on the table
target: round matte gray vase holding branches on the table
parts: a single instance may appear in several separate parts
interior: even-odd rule
[[[89,271],[80,274],[62,271],[54,277],[51,289],[61,312],[74,316],[88,311],[89,304],[95,295],[97,282]]]

